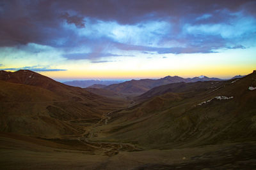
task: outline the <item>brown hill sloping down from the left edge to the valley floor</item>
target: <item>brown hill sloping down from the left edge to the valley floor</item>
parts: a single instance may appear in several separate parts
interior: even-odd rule
[[[124,103],[70,87],[32,71],[0,72],[0,131],[41,138],[81,134],[83,124]],[[4,81],[3,81],[4,80]]]

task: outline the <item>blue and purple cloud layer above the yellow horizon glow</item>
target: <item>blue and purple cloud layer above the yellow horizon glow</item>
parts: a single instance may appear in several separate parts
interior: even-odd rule
[[[255,9],[254,0],[3,0],[0,59],[22,51],[29,59],[43,56],[48,64],[54,57],[63,63],[93,64],[113,62],[115,57],[246,50],[256,44]]]

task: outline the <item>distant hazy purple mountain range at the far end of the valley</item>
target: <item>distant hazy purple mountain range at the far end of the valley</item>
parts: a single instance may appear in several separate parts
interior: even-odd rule
[[[236,76],[234,78],[241,78],[243,76]],[[88,82],[93,83],[95,80],[88,80]],[[141,79],[141,80],[130,80],[124,81],[122,83],[113,83],[113,81],[100,81],[101,83],[96,83],[88,86],[86,90],[98,94],[100,96],[116,97],[117,96],[138,96],[147,92],[148,90],[169,83],[191,83],[196,81],[221,81],[220,78],[208,78],[207,76],[198,76],[194,78],[182,78],[180,76],[166,76],[160,79]],[[84,85],[79,85],[79,82],[87,81],[70,81],[65,82],[68,85],[74,85],[79,87],[84,87]],[[104,84],[103,84],[104,83]],[[109,84],[110,85],[109,85]],[[100,89],[100,90],[99,90]]]

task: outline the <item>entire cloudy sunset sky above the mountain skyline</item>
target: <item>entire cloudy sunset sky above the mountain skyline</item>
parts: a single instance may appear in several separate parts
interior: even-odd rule
[[[1,0],[0,69],[58,81],[256,69],[256,1]]]

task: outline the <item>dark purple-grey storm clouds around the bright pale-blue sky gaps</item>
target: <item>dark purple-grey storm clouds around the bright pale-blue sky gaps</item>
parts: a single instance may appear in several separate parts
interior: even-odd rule
[[[63,56],[70,60],[120,56],[103,53],[103,46],[127,51],[137,50],[142,53],[211,53],[218,48],[241,48],[241,46],[227,47],[226,43],[232,43],[232,39],[223,39],[220,35],[205,36],[202,32],[186,34],[184,25],[230,24],[230,20],[236,17],[230,13],[242,11],[246,15],[255,17],[255,8],[256,1],[253,0],[4,0],[0,2],[0,46],[28,43],[49,45],[66,50],[67,54]],[[77,29],[87,29],[84,18],[90,18],[92,23],[101,20],[120,25],[140,24],[147,20],[165,21],[172,24],[172,34],[164,32],[165,35],[161,36],[160,41],[175,39],[184,43],[185,47],[161,48],[120,43],[116,39],[109,38],[108,35],[97,37],[99,30],[89,36],[83,36],[77,33]],[[75,28],[68,29],[63,26],[65,22]],[[77,46],[89,46],[93,52],[68,54],[70,48]]]

